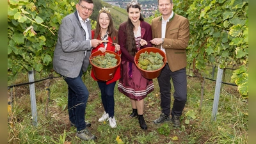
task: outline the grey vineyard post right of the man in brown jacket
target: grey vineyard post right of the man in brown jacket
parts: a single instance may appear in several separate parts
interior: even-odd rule
[[[218,103],[220,98],[220,87],[221,87],[221,79],[223,75],[223,69],[218,67],[217,79],[216,79],[216,86],[215,86],[215,93],[214,93],[214,100],[212,106],[212,120],[216,120],[216,115],[218,111]]]

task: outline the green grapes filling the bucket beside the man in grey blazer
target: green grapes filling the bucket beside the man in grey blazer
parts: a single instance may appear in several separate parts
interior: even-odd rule
[[[92,58],[92,63],[97,67],[101,68],[111,68],[117,65],[117,60],[115,54],[106,52],[105,55],[99,55]]]

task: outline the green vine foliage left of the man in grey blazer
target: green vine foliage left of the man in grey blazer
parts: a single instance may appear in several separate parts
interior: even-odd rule
[[[8,1],[8,78],[52,69],[58,27],[74,10],[72,1]]]

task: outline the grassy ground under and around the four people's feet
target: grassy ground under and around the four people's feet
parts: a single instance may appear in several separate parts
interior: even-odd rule
[[[38,75],[35,79],[42,77]],[[88,129],[97,136],[96,141],[76,138],[76,129],[70,127],[68,120],[67,84],[56,78],[51,80],[47,115],[45,81],[35,83],[37,127],[33,127],[31,120],[29,86],[8,90],[9,96],[13,97],[12,109],[8,113],[8,143],[248,143],[248,100],[240,97],[236,86],[221,85],[217,118],[212,121],[215,83],[205,80],[204,100],[200,107],[200,81],[196,77],[188,77],[188,101],[181,116],[181,127],[176,129],[170,123],[152,123],[161,112],[159,87],[157,79],[154,79],[155,90],[145,98],[144,115],[148,129],[143,131],[137,118],[129,118],[131,104],[125,95],[118,92],[117,86],[115,118],[118,125],[111,129],[108,122],[99,123],[98,119],[104,112],[100,90],[89,72],[83,78],[90,92],[86,120],[92,123]],[[8,84],[18,82],[27,83],[28,76],[20,74]]]

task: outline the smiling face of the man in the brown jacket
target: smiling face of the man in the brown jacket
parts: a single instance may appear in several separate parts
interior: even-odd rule
[[[170,0],[159,0],[158,8],[163,17],[170,17],[172,14],[173,3],[171,3]]]

